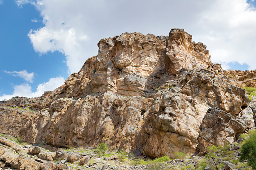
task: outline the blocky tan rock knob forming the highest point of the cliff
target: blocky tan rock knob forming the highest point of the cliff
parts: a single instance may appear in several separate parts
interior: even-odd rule
[[[211,56],[203,43],[192,42],[192,36],[183,29],[172,29],[166,42],[167,68],[177,74],[182,68],[206,69],[210,66]]]

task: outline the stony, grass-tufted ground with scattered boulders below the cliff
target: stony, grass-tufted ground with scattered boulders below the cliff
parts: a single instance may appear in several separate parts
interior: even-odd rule
[[[107,150],[97,154],[93,148],[57,148],[30,145],[10,135],[0,134],[0,169],[211,169],[204,156],[184,155],[181,159],[152,161],[125,152]],[[251,169],[238,161],[243,139],[221,149],[223,169]],[[179,155],[178,155],[179,156]],[[187,157],[187,158],[185,158]],[[231,163],[232,162],[232,163]],[[234,164],[233,164],[234,163]],[[208,165],[208,166],[207,166]]]

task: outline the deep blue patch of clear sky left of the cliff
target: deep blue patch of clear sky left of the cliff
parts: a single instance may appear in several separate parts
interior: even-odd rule
[[[49,52],[41,55],[33,49],[28,33],[31,29],[43,27],[42,20],[33,5],[27,4],[19,8],[15,1],[9,0],[0,5],[0,96],[12,94],[17,85],[28,84],[35,92],[39,84],[48,82],[52,77],[68,77],[62,53]],[[28,74],[34,73],[31,80],[25,80],[14,73],[23,70]],[[62,84],[63,82],[60,85]]]

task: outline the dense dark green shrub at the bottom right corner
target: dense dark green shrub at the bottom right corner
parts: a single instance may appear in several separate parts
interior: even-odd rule
[[[240,152],[240,161],[247,160],[247,164],[252,169],[256,169],[256,130],[251,131],[249,138],[242,144]]]

